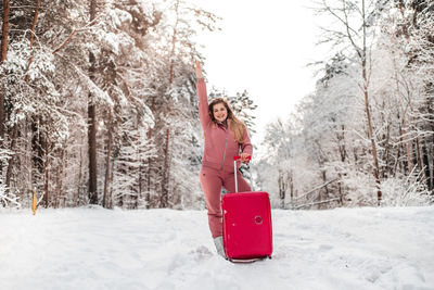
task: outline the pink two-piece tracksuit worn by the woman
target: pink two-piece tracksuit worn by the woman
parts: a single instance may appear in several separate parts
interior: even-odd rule
[[[241,153],[252,155],[252,143],[247,130],[244,130],[244,142],[235,141],[233,131],[222,125],[214,123],[208,114],[206,85],[203,78],[196,84],[199,96],[199,114],[205,136],[205,148],[202,157],[201,186],[208,209],[209,230],[213,238],[222,235],[220,192],[221,187],[229,192],[235,192],[233,174],[233,156]],[[238,164],[240,167],[240,164]],[[238,190],[251,191],[251,187],[237,171]]]

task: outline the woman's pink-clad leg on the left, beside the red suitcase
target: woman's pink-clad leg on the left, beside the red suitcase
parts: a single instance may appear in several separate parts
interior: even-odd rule
[[[213,168],[202,168],[201,187],[205,196],[206,209],[208,209],[208,224],[213,238],[222,236],[221,224],[221,192],[222,179],[218,171]]]

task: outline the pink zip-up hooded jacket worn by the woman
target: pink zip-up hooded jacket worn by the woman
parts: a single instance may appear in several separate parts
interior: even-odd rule
[[[218,126],[212,121],[208,113],[206,85],[203,78],[197,79],[196,89],[199,96],[199,115],[205,136],[202,165],[233,173],[233,156],[238,156],[241,153],[252,155],[253,152],[247,129],[244,129],[244,142],[238,143],[233,131],[229,127]],[[240,167],[240,163],[238,167]]]

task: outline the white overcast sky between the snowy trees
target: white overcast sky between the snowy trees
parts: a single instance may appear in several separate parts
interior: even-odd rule
[[[314,90],[314,68],[324,48],[315,46],[317,17],[295,0],[190,0],[222,17],[221,31],[204,33],[199,41],[206,56],[208,88],[230,96],[246,89],[258,105],[256,141],[267,123],[286,119],[294,105]]]

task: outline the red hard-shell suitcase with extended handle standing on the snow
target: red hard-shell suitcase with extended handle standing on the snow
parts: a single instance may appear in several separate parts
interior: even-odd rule
[[[238,159],[239,156],[234,157],[234,161]],[[237,164],[234,167],[238,191]],[[221,210],[227,259],[237,261],[271,257],[271,210],[267,192],[226,193],[221,199]]]

